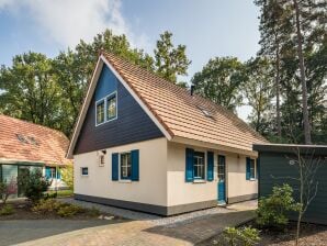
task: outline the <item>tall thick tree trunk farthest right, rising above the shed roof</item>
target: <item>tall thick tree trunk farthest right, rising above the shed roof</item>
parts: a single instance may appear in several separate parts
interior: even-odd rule
[[[304,69],[304,58],[303,58],[303,48],[302,48],[302,33],[300,27],[300,9],[297,0],[293,0],[295,9],[295,22],[296,22],[296,36],[297,36],[297,56],[301,74],[301,83],[302,83],[302,107],[303,107],[303,123],[304,123],[304,142],[305,144],[312,144],[311,139],[311,126],[308,122],[308,109],[307,109],[307,89],[305,80],[305,69]]]

